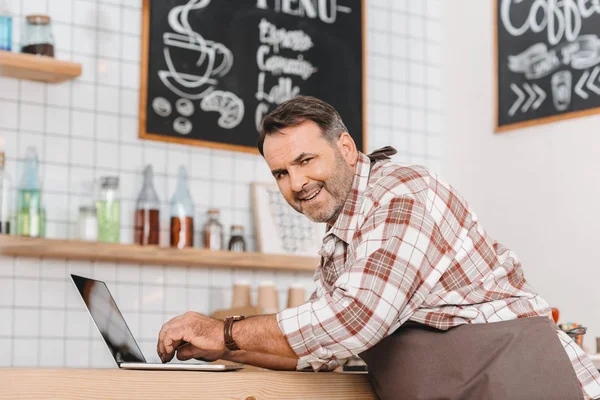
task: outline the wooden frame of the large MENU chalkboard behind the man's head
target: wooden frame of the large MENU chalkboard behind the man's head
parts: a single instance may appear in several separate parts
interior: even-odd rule
[[[367,149],[367,71],[366,71],[366,5],[365,0],[359,0],[361,7],[361,77],[362,77],[362,149]],[[192,139],[185,137],[172,137],[152,132],[147,132],[147,106],[148,106],[148,69],[149,69],[149,45],[150,45],[150,2],[143,0],[142,3],[142,37],[141,37],[141,67],[140,67],[140,97],[139,97],[139,118],[138,118],[138,138],[159,142],[177,143],[192,146],[201,146],[212,149],[231,150],[244,153],[259,154],[256,146],[242,146],[236,144],[221,143],[209,140]],[[308,94],[308,93],[307,93]],[[257,133],[258,135],[258,133]]]

